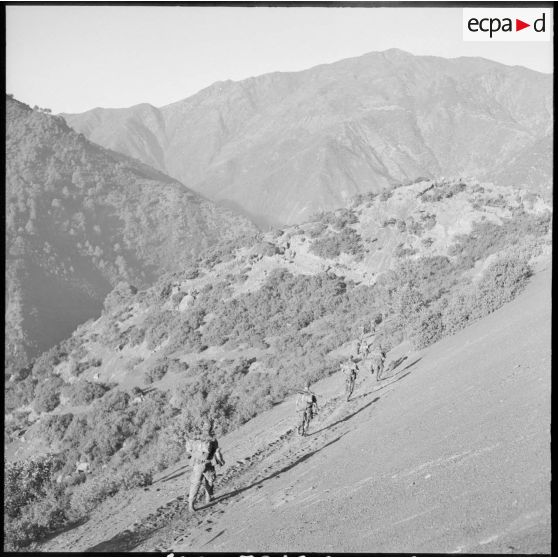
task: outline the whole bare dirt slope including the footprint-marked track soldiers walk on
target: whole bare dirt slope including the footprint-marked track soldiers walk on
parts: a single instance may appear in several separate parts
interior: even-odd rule
[[[222,439],[216,500],[190,516],[187,461],[42,551],[550,552],[550,269],[515,301],[351,401],[314,386]],[[400,358],[399,358],[400,357]],[[134,522],[136,524],[134,525]]]

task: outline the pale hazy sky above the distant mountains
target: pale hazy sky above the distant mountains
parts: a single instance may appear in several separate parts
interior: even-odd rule
[[[393,47],[552,72],[550,41],[463,42],[461,24],[461,8],[7,6],[7,91],[54,112],[162,106]]]

